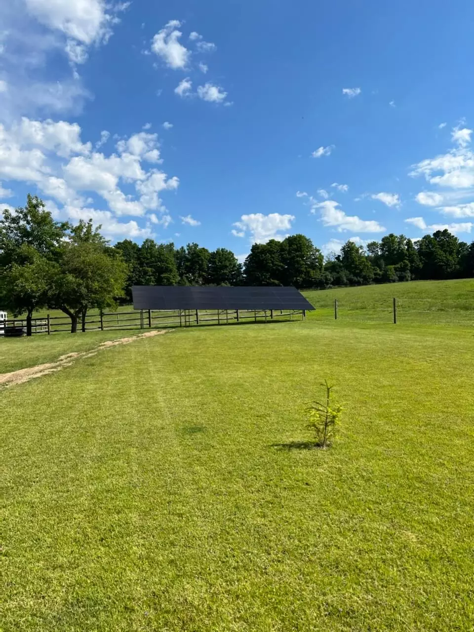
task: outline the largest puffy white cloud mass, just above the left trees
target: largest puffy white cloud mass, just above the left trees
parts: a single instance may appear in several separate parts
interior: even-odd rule
[[[99,143],[108,135],[104,130]],[[10,128],[0,125],[0,177],[27,183],[30,190],[36,185],[43,195],[63,204],[64,212],[92,204],[92,199],[82,197],[84,193],[93,193],[107,203],[109,210],[104,212],[111,215],[106,219],[143,216],[147,209],[164,212],[159,193],[176,190],[179,179],[143,167],[161,161],[157,135],[142,131],[119,140],[116,146],[119,153],[106,156],[92,150],[91,143],[82,142],[77,124],[23,118]],[[135,195],[121,190],[121,183],[134,185]],[[0,186],[0,195],[7,191]],[[50,200],[50,204],[56,202]],[[108,226],[111,231],[123,230],[114,229],[110,221]],[[134,223],[129,222],[126,230],[142,234]]]

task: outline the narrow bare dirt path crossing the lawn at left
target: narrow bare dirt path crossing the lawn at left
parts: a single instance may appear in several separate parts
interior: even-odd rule
[[[140,338],[152,338],[154,336],[160,336],[161,334],[167,334],[169,330],[159,329],[157,331],[147,331],[144,334],[138,334],[138,336],[130,336],[128,338],[118,338],[116,340],[107,340],[104,343],[100,343],[99,346],[89,351],[79,351],[76,353],[67,353],[56,360],[56,362],[50,362],[48,364],[39,364],[36,367],[20,368],[18,371],[12,371],[11,373],[0,374],[0,387],[16,386],[17,384],[23,384],[29,382],[35,377],[42,377],[42,375],[49,375],[60,371],[64,367],[70,367],[75,360],[80,358],[90,358],[97,355],[99,351],[109,349],[110,347],[116,347],[121,344],[133,343]]]

